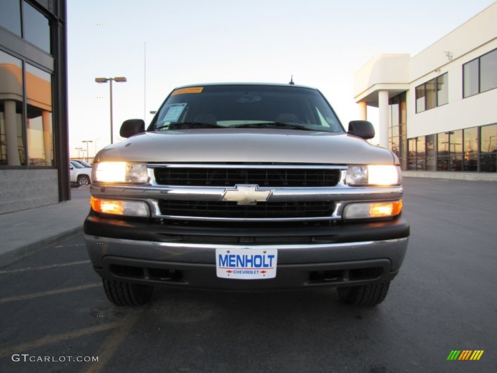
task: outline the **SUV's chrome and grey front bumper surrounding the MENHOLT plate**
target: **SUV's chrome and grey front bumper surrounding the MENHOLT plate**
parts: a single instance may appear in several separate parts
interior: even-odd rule
[[[102,278],[237,291],[350,286],[392,280],[402,265],[408,245],[407,237],[306,245],[186,244],[88,234],[85,240],[93,268]],[[277,249],[276,278],[217,278],[216,248]]]

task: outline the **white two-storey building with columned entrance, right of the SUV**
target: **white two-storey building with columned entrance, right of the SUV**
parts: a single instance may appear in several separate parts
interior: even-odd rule
[[[374,56],[354,98],[405,175],[497,180],[497,3],[414,57]]]

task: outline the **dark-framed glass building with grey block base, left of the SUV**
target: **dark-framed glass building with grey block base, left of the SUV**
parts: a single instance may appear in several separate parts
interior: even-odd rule
[[[0,213],[71,198],[65,0],[0,10]]]

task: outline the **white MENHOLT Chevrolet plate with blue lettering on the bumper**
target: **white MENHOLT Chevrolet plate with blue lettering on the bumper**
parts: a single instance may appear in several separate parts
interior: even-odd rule
[[[216,249],[217,277],[259,280],[276,277],[276,249]]]

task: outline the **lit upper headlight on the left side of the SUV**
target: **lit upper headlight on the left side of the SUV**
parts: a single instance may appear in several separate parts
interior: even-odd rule
[[[145,184],[149,181],[144,163],[99,162],[93,165],[92,178],[99,183]]]

